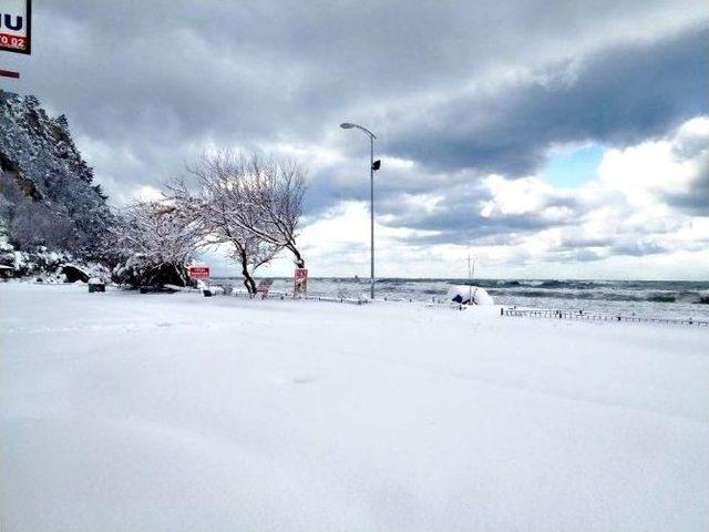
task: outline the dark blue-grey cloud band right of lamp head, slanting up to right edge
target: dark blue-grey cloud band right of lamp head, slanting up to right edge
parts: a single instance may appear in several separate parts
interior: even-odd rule
[[[709,109],[707,45],[708,29],[619,45],[551,83],[446,101],[423,113],[434,116],[433,123],[409,127],[415,133],[401,136],[390,151],[430,165],[525,175],[537,170],[553,144],[592,140],[623,146],[659,136]]]

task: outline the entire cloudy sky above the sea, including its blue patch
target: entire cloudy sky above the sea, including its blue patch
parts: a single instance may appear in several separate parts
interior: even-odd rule
[[[116,205],[205,149],[307,163],[311,275],[368,275],[351,121],[380,276],[709,278],[706,0],[35,0],[33,38],[2,86]]]

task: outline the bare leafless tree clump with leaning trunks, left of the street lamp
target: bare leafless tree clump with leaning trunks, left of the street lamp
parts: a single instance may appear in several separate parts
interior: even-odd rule
[[[196,221],[206,242],[229,245],[250,294],[256,293],[254,272],[281,249],[305,266],[296,243],[306,190],[300,164],[222,151],[203,155],[188,171],[194,190],[177,180],[167,185],[167,196]]]

